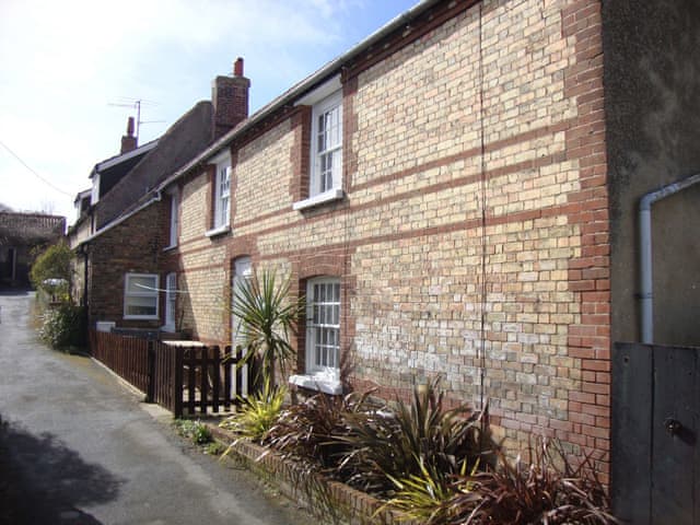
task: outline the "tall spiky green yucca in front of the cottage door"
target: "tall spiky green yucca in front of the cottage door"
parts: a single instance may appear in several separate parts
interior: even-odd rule
[[[238,366],[252,364],[258,358],[261,377],[257,380],[269,380],[272,386],[277,365],[284,373],[295,354],[289,341],[304,311],[303,300],[290,298],[290,284],[289,279],[280,281],[275,271],[265,270],[259,277],[254,273],[243,281],[233,298],[233,315],[241,320],[237,336],[245,341]]]

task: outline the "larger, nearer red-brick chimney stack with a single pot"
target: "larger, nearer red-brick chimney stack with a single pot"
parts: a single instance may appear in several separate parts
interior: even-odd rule
[[[217,77],[211,84],[213,104],[213,139],[218,139],[248,118],[250,81],[243,75],[243,58],[233,63],[233,77]]]

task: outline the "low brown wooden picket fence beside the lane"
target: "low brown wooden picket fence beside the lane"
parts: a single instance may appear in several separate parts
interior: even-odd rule
[[[247,366],[231,347],[207,347],[196,341],[165,343],[104,331],[90,332],[95,359],[158,402],[176,418],[231,410],[252,385]]]

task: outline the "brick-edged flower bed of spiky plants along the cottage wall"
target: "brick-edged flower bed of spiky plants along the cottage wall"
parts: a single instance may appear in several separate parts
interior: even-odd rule
[[[411,404],[368,398],[320,394],[282,408],[281,392],[266,388],[215,435],[323,523],[617,523],[588,457],[573,465],[537,439],[528,462],[508,459],[486,421],[443,409],[438,380]]]

